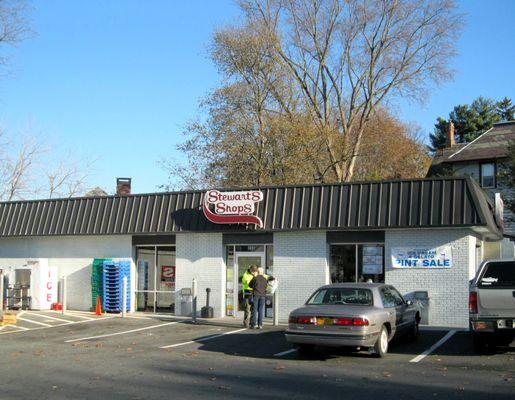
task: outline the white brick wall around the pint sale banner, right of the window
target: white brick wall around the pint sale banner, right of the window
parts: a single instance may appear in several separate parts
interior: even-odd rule
[[[402,294],[429,292],[429,325],[468,327],[468,280],[476,268],[476,238],[466,229],[390,230],[385,236],[385,281]],[[394,269],[392,247],[436,247],[450,244],[449,269]]]

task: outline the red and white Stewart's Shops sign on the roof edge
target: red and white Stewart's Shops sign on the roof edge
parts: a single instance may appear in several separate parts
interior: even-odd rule
[[[206,218],[214,224],[254,224],[263,227],[263,221],[254,215],[256,203],[263,200],[260,190],[219,192],[208,190],[202,208]]]

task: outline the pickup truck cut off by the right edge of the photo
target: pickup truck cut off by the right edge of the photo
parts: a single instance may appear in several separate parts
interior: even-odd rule
[[[515,337],[515,260],[485,261],[470,284],[470,329],[482,352]]]

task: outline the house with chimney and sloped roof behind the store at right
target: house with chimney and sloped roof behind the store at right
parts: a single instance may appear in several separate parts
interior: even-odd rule
[[[495,202],[498,193],[507,201],[515,200],[515,188],[503,178],[508,148],[515,144],[515,121],[499,122],[470,143],[456,143],[454,126],[447,133],[446,146],[438,149],[429,175],[470,176],[475,179]],[[492,247],[489,258],[515,258],[515,214],[504,207],[504,234],[506,239]]]

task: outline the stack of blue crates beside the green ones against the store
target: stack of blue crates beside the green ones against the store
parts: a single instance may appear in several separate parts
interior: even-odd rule
[[[131,264],[129,261],[104,261],[102,305],[106,312],[122,311],[123,277],[127,277],[127,311],[131,307]]]

